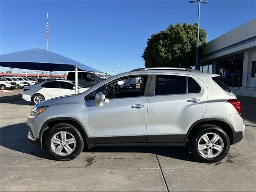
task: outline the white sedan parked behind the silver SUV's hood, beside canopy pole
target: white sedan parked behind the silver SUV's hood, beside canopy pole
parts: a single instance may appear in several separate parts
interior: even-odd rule
[[[78,84],[78,93],[88,90]],[[75,94],[75,82],[68,80],[43,81],[33,86],[26,86],[23,89],[22,99],[38,104],[44,100]]]

